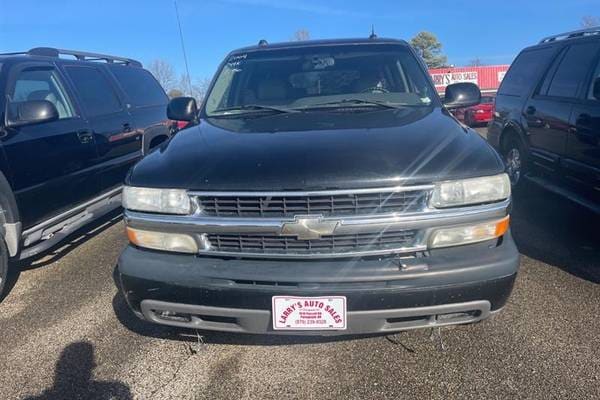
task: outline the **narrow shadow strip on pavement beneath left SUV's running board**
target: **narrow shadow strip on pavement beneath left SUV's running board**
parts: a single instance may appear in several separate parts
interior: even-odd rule
[[[0,303],[8,296],[17,283],[21,271],[42,268],[60,260],[79,245],[104,232],[106,229],[121,221],[121,219],[121,210],[115,210],[73,232],[64,241],[57,243],[56,246],[53,246],[34,257],[26,260],[11,260],[6,279],[6,287],[4,288],[4,293],[0,296]]]

